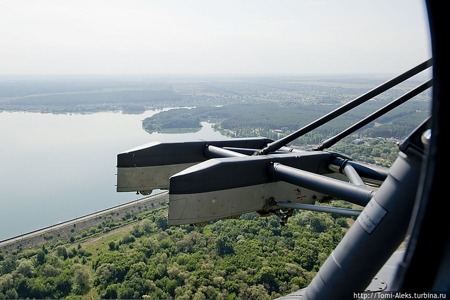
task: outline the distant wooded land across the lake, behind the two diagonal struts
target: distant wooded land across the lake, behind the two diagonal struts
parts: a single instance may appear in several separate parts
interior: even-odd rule
[[[356,107],[329,123],[294,140],[291,144],[303,147],[318,145],[337,134],[363,116],[376,110],[385,101],[374,101]],[[429,115],[427,101],[410,101],[379,117],[355,134],[344,138],[331,150],[344,153],[355,160],[390,166],[397,157],[397,140],[404,138]],[[156,113],[142,121],[147,131],[171,128],[200,128],[200,121],[214,122],[214,128],[232,137],[264,136],[278,139],[301,128],[314,119],[335,109],[337,105],[308,105],[258,101],[221,107],[170,109]],[[277,129],[277,130],[275,130]]]

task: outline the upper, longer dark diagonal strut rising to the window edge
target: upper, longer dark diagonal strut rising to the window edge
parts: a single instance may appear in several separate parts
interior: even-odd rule
[[[334,119],[335,117],[341,115],[344,112],[347,112],[348,110],[358,106],[361,103],[364,103],[367,100],[370,100],[374,96],[388,90],[389,88],[397,85],[398,83],[418,74],[419,72],[423,71],[424,69],[430,67],[432,65],[432,58],[426,60],[425,62],[420,63],[419,65],[411,68],[410,70],[382,83],[381,85],[378,85],[377,87],[369,90],[365,94],[360,95],[359,97],[351,100],[348,103],[345,103],[344,105],[334,109],[331,112],[328,112],[324,116],[316,119],[315,121],[307,124],[306,126],[298,129],[295,132],[292,132],[291,134],[284,136],[278,140],[275,140],[274,142],[269,143],[264,149],[262,149],[262,153],[267,154],[268,152],[273,152],[278,150],[280,147],[288,144],[289,142],[293,141],[294,139],[302,136],[305,133],[308,133],[309,131],[312,131],[313,129],[323,125],[324,123]]]

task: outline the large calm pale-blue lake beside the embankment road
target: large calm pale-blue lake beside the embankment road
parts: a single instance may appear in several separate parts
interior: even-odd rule
[[[194,133],[149,134],[141,120],[156,112],[0,112],[0,240],[142,197],[115,191],[118,152],[226,138],[206,122]]]

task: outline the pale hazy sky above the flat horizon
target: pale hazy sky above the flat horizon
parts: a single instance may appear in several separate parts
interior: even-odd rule
[[[1,74],[398,73],[421,0],[1,0]]]

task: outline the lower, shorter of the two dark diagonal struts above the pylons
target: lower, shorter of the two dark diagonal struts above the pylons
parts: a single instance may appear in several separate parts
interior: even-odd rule
[[[375,120],[376,118],[380,117],[381,115],[385,114],[386,112],[392,110],[393,108],[399,106],[400,104],[406,102],[407,100],[409,100],[410,98],[418,95],[419,93],[421,93],[422,91],[426,90],[428,87],[433,85],[433,79],[429,79],[426,82],[423,82],[422,84],[420,84],[419,86],[411,89],[410,91],[408,91],[407,93],[403,94],[402,96],[396,98],[395,100],[393,100],[392,102],[390,102],[389,104],[386,104],[385,106],[381,107],[380,109],[376,110],[375,112],[373,112],[372,114],[369,114],[368,116],[366,116],[365,118],[363,118],[362,120],[360,120],[359,122],[351,125],[350,127],[348,127],[347,129],[337,133],[336,135],[328,138],[327,140],[325,140],[324,142],[322,142],[317,148],[316,150],[323,150],[326,148],[331,147],[332,145],[334,145],[336,142],[338,142],[339,140],[341,140],[342,138],[344,138],[345,136],[353,133],[354,131],[362,128],[363,126],[367,125],[368,123],[370,123],[371,121]]]

